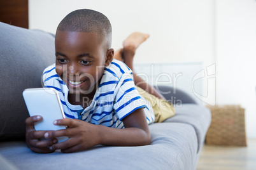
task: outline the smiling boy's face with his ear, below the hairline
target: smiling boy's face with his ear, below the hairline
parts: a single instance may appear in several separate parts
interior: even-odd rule
[[[96,32],[57,31],[55,36],[56,72],[69,93],[89,94],[101,79],[104,67],[113,59]]]

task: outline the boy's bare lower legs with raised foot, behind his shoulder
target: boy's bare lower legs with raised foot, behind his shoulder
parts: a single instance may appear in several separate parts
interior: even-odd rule
[[[132,33],[125,41],[123,42],[123,49],[119,49],[117,53],[114,55],[114,58],[117,60],[122,59],[124,63],[132,69],[134,75],[134,83],[141,89],[144,89],[146,92],[156,96],[157,98],[164,98],[155,88],[150,86],[146,81],[141,79],[135,72],[133,68],[133,58],[138,46],[148,39],[148,34],[143,34],[140,32]],[[121,60],[121,61],[122,61]],[[164,98],[165,99],[165,98]]]

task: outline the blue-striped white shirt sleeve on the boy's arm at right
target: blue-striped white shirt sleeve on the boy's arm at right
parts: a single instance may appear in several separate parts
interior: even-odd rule
[[[141,98],[134,84],[132,72],[122,75],[116,90],[113,108],[120,121],[135,110],[146,107],[146,101]]]

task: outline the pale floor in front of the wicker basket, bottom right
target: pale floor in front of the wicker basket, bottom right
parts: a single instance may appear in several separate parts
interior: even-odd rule
[[[247,140],[247,147],[204,145],[197,170],[255,170],[256,139]]]

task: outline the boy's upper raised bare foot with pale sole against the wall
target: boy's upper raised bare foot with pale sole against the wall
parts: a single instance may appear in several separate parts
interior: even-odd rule
[[[149,34],[144,34],[141,32],[133,32],[130,36],[127,37],[127,39],[124,40],[123,42],[124,49],[132,50],[135,53],[138,46],[142,42],[146,41],[146,39],[148,39],[149,36],[150,36]]]

